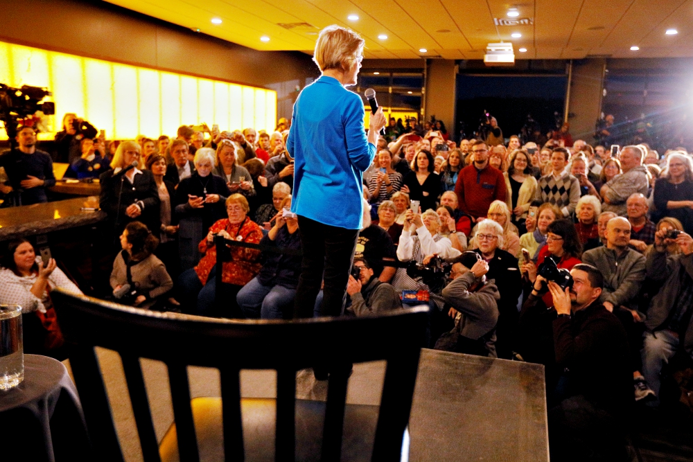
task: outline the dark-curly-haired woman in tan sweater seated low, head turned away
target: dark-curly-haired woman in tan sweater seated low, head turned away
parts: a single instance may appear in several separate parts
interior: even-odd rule
[[[163,310],[164,298],[173,289],[166,266],[153,252],[159,245],[147,226],[130,222],[121,234],[123,250],[113,262],[110,283],[119,303]]]

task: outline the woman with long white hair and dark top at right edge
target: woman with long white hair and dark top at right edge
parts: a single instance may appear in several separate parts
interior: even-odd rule
[[[654,184],[654,204],[660,217],[674,217],[693,233],[693,161],[681,151],[667,155],[667,167]]]

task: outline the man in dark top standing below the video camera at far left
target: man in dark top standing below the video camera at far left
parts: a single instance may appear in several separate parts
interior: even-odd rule
[[[36,131],[20,126],[16,149],[0,154],[0,167],[5,168],[9,185],[1,187],[8,195],[6,203],[15,206],[48,202],[46,189],[55,185],[53,161],[47,152],[36,149]]]

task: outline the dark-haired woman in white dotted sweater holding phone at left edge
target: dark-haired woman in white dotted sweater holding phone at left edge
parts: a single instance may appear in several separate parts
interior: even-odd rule
[[[0,270],[0,303],[21,306],[24,353],[65,359],[62,333],[55,318],[51,290],[60,287],[76,294],[82,291],[55,265],[36,256],[26,239],[12,240]]]

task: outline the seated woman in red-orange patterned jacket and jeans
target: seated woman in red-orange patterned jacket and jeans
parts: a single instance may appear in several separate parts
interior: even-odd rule
[[[209,228],[207,238],[202,239],[198,248],[203,254],[198,266],[183,272],[177,281],[178,300],[182,310],[203,315],[220,314],[224,317],[240,317],[236,295],[260,272],[258,263],[260,251],[247,247],[232,247],[231,259],[222,267],[222,283],[225,292],[223,299],[216,301],[216,246],[215,236],[223,236],[236,242],[258,244],[263,233],[260,226],[247,217],[248,200],[240,194],[226,199],[228,218],[218,220]],[[215,303],[218,302],[218,303]],[[223,308],[223,310],[220,310]]]

